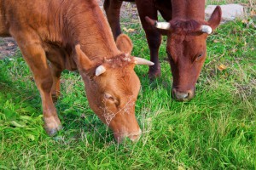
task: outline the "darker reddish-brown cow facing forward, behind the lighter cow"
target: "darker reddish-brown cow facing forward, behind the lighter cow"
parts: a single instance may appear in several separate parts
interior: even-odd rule
[[[167,36],[166,52],[172,68],[172,97],[188,100],[195,96],[195,82],[206,59],[206,39],[220,23],[221,8],[215,8],[205,21],[205,0],[125,0],[136,2],[137,11],[146,32],[150,60],[148,77],[160,77],[158,52],[161,35]],[[119,12],[122,1],[105,0],[108,22],[116,38],[121,33]],[[157,22],[157,13],[168,22]]]

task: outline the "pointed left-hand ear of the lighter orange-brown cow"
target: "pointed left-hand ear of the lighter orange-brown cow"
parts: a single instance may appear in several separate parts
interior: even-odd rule
[[[87,57],[86,54],[80,48],[80,45],[76,45],[76,64],[78,65],[79,70],[89,70],[94,66],[93,62]]]

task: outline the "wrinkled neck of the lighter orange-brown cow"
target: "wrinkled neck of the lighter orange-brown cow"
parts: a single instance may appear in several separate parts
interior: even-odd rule
[[[90,59],[111,59],[118,55],[120,52],[111,29],[98,4],[95,1],[84,1],[79,7],[73,8],[75,10],[67,14],[72,16],[72,20],[67,20],[67,34],[71,43],[79,43]]]

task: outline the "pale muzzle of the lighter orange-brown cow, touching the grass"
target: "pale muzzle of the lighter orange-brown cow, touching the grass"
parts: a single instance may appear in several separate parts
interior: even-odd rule
[[[141,134],[142,130],[139,129],[136,133],[114,133],[113,136],[118,143],[121,143],[125,138],[131,139],[132,142],[137,142],[137,140],[140,139]]]

